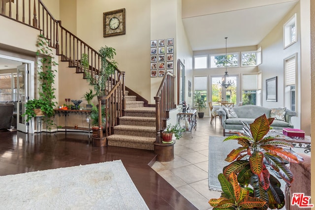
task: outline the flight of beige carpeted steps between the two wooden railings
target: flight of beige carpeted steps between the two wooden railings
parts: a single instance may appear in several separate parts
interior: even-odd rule
[[[136,101],[136,96],[126,96],[125,116],[114,126],[114,135],[107,137],[109,146],[154,150],[156,109],[143,105],[143,101]]]

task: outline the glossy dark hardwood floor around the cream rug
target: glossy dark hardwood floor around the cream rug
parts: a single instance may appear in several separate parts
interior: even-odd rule
[[[0,132],[0,176],[121,159],[150,210],[196,209],[151,165],[153,151],[93,147],[87,133]]]

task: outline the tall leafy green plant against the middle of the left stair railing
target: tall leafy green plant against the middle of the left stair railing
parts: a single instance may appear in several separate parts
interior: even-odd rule
[[[98,74],[92,76],[89,71],[85,71],[85,77],[89,85],[93,86],[96,95],[106,95],[106,81],[117,69],[117,62],[113,60],[116,50],[105,46],[99,49],[98,54],[101,58],[101,67]]]

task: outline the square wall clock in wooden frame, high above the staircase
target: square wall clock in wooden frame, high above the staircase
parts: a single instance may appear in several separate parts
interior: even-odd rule
[[[126,34],[126,9],[117,9],[103,13],[103,36]]]

